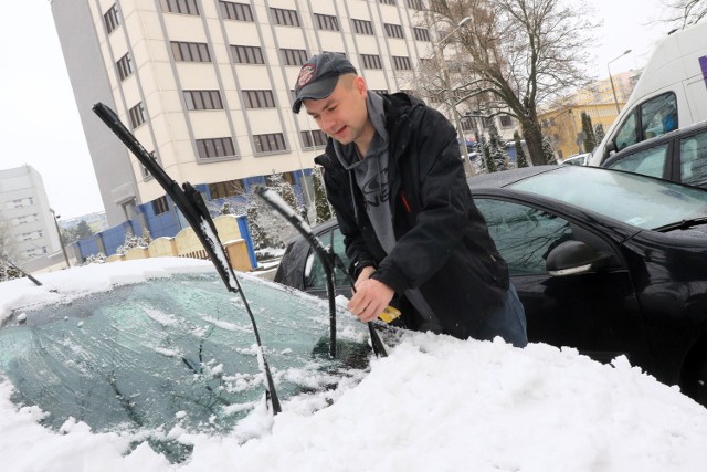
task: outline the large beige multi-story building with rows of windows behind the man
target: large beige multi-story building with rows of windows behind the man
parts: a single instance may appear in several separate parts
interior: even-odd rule
[[[373,91],[410,90],[432,57],[420,0],[53,0],[108,223],[173,208],[92,113],[122,120],[178,182],[207,199],[283,174],[307,198],[325,135],[292,113],[293,88],[314,53],[345,54]],[[175,217],[170,217],[175,219]],[[162,225],[166,228],[167,225]],[[161,235],[159,228],[150,228]]]

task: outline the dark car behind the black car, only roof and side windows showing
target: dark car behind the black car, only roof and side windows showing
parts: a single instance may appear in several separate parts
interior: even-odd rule
[[[630,146],[601,167],[707,187],[707,122]]]

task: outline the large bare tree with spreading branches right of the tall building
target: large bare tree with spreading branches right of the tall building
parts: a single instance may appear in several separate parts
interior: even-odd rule
[[[472,18],[449,39],[466,53],[464,63],[451,67],[466,76],[455,88],[457,103],[471,101],[476,115],[515,117],[530,160],[545,164],[538,105],[592,78],[583,69],[597,27],[588,3],[430,0],[429,7],[437,31],[453,31],[462,19]]]

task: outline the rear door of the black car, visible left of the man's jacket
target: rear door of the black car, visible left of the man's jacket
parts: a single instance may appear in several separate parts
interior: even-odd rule
[[[346,248],[344,245],[344,234],[339,231],[338,227],[327,229],[317,234],[321,243],[327,247],[330,245],[336,254],[341,258],[344,266],[348,268],[349,259],[346,255]],[[340,270],[335,270],[335,292],[337,295],[344,295],[349,297],[351,295],[351,284],[348,281],[346,274]],[[326,298],[327,296],[327,281],[326,273],[324,271],[324,264],[321,260],[316,255],[310,248],[307,254],[307,262],[305,264],[304,272],[305,292],[315,296]]]

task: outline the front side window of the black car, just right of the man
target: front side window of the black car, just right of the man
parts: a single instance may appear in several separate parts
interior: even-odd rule
[[[567,220],[525,204],[474,199],[510,275],[546,274],[546,259],[559,243],[572,240]]]

